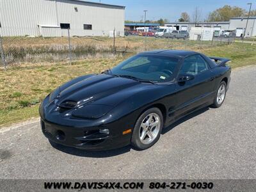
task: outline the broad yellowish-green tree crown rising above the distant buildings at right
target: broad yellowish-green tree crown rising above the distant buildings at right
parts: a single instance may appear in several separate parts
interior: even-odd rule
[[[225,5],[209,13],[208,21],[228,21],[232,17],[241,17],[245,14],[245,10],[237,6]]]

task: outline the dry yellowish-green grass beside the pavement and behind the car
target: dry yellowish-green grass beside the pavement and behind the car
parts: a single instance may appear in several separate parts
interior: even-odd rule
[[[20,38],[19,38],[20,39]],[[31,39],[31,38],[30,38]],[[22,44],[26,46],[33,45],[35,42],[26,40]],[[34,38],[33,38],[34,39]],[[36,46],[65,44],[65,39],[61,38],[35,38]],[[34,41],[35,41],[34,39]],[[6,40],[6,38],[5,38]],[[110,46],[112,40],[110,38],[72,38],[72,42],[77,44],[95,44],[95,46]],[[93,43],[94,42],[94,43]],[[22,46],[22,44],[17,44]],[[12,44],[12,45],[13,45]],[[129,47],[136,54],[138,51],[144,51],[145,45],[147,49],[188,49],[200,51],[211,56],[227,57],[232,60],[232,67],[241,67],[244,65],[255,65],[256,61],[256,45],[250,44],[231,44],[223,45],[215,42],[198,42],[184,40],[165,40],[157,38],[118,38],[116,45],[119,48]],[[0,127],[12,124],[28,118],[38,116],[38,106],[40,101],[50,93],[54,88],[63,84],[74,77],[84,74],[99,73],[107,68],[115,66],[131,54],[124,56],[113,53],[106,55],[104,58],[97,56],[88,56],[86,60],[76,61],[70,66],[67,62],[44,62],[44,63],[16,63],[9,67],[7,72],[3,68],[0,69]]]

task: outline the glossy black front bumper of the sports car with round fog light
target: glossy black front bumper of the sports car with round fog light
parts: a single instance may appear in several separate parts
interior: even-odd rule
[[[99,127],[65,127],[41,118],[41,129],[46,138],[68,147],[84,150],[110,150],[129,145],[131,136],[113,136],[111,130]],[[109,133],[108,131],[109,130]],[[105,132],[104,132],[105,131]]]

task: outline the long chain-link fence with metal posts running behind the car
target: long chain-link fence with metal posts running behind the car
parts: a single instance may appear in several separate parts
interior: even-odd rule
[[[124,56],[127,52],[152,49],[204,49],[206,47],[231,44],[236,37],[214,37],[204,41],[186,38],[156,38],[154,35],[131,35],[123,31],[109,31],[106,36],[70,36],[69,29],[63,36],[0,36],[1,66],[22,63],[70,63],[86,58]],[[127,31],[125,31],[127,32]],[[102,31],[99,31],[102,33]],[[0,31],[1,35],[1,31]]]

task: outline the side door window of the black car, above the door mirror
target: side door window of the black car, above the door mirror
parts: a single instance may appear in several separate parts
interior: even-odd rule
[[[183,62],[182,68],[180,69],[180,74],[191,74],[196,76],[208,70],[208,65],[204,58],[199,54],[189,56]]]

